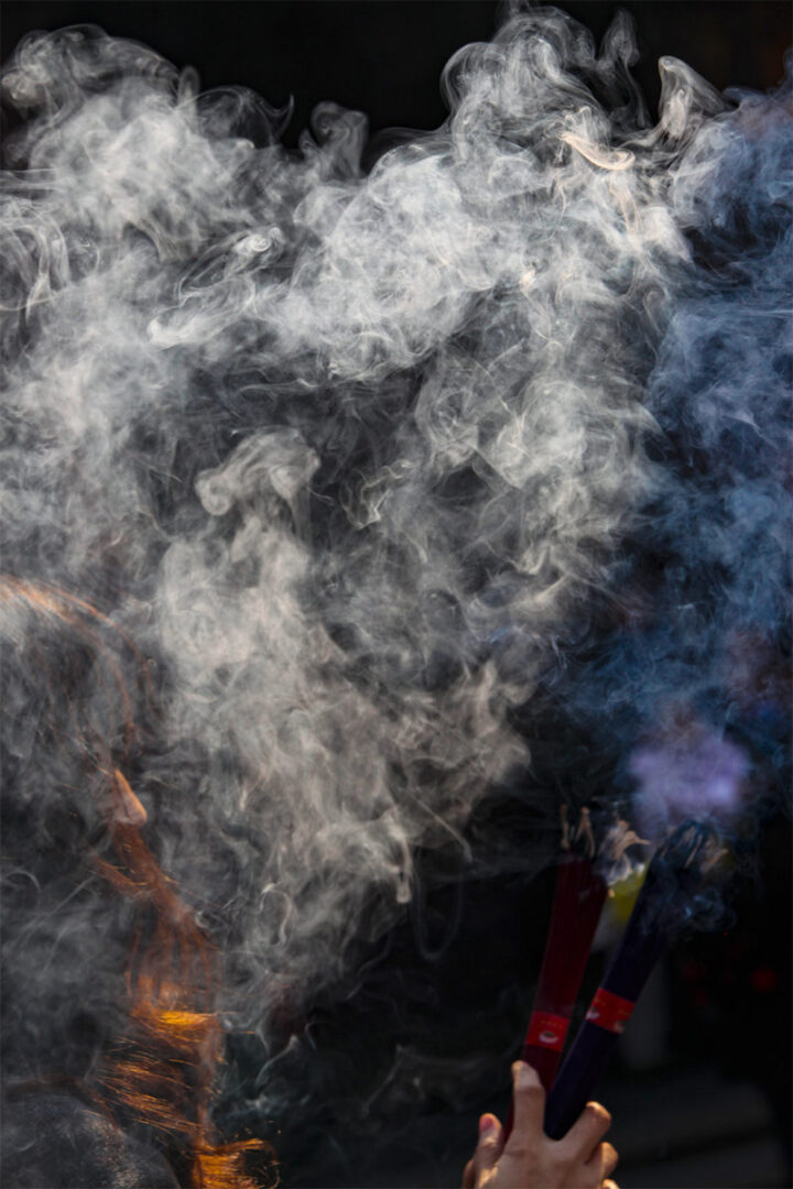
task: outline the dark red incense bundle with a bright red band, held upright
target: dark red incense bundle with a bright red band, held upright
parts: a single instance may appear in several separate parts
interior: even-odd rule
[[[571,849],[574,845],[581,849]],[[572,839],[566,813],[562,812],[562,848],[565,853],[556,868],[556,887],[540,981],[521,1051],[521,1058],[536,1069],[546,1092],[550,1089],[561,1061],[565,1037],[606,895],[605,880],[592,866],[596,848],[586,809],[581,810]],[[510,1109],[504,1139],[511,1130]]]

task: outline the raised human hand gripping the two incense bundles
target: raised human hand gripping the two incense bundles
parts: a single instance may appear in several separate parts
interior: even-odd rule
[[[608,1177],[617,1166],[611,1144],[602,1143],[611,1115],[587,1102],[562,1139],[542,1130],[546,1092],[525,1062],[512,1065],[515,1125],[503,1141],[495,1115],[479,1120],[479,1143],[465,1166],[462,1189],[618,1189]]]

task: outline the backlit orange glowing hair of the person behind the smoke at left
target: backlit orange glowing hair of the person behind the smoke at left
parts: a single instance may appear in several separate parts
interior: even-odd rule
[[[121,668],[102,640],[112,629],[89,603],[65,591],[0,578],[0,605],[15,604],[39,622],[68,629],[101,656],[124,719],[124,747],[134,735],[132,700]],[[134,652],[134,648],[133,648]],[[105,1055],[96,1083],[114,1113],[153,1128],[184,1183],[195,1189],[275,1189],[277,1160],[260,1139],[222,1141],[210,1108],[222,1061],[222,1028],[213,1009],[216,951],[178,889],[144,841],[146,811],[109,747],[88,724],[73,722],[83,754],[90,751],[90,781],[107,820],[115,862],[94,856],[95,869],[117,893],[139,907],[126,971],[126,1027]]]

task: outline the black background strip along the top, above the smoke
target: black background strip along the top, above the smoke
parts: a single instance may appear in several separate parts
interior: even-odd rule
[[[684,58],[719,89],[773,87],[791,43],[786,0],[643,0],[560,5],[602,37],[618,8],[637,25],[636,76],[649,102],[659,95],[656,62]],[[492,0],[5,0],[2,57],[25,33],[73,24],[152,45],[204,87],[252,87],[275,106],[290,95],[287,144],[321,100],[367,113],[372,131],[434,128],[445,115],[438,81],[467,42],[487,40],[502,6]]]

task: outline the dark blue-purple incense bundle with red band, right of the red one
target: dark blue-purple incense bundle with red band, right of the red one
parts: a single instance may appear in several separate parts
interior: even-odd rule
[[[591,1099],[684,904],[697,891],[710,837],[706,826],[685,822],[650,862],[611,965],[548,1095],[545,1130],[552,1139],[561,1139]]]

